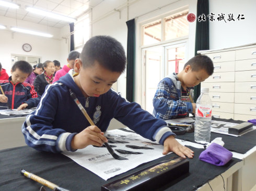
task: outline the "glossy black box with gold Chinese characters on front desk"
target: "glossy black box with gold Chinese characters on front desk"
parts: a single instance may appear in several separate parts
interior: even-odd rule
[[[171,157],[168,160],[105,184],[101,186],[101,191],[155,190],[187,173],[189,173],[189,161],[178,156]]]

